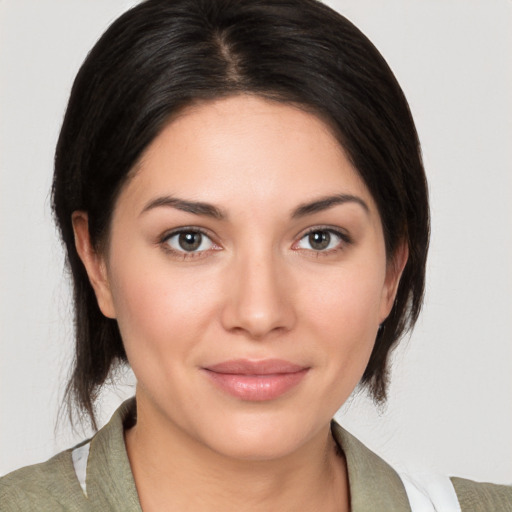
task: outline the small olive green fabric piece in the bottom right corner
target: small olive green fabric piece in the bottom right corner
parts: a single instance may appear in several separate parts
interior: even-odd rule
[[[462,512],[512,512],[512,486],[451,478]]]

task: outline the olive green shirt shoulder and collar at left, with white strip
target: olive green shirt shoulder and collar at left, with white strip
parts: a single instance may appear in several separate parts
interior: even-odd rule
[[[0,478],[0,512],[141,512],[124,444],[134,414],[128,400],[91,440]]]

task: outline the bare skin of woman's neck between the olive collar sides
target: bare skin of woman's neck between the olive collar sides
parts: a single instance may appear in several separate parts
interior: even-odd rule
[[[237,460],[145,416],[139,408],[137,424],[125,433],[144,512],[350,510],[346,461],[330,425],[285,457]]]

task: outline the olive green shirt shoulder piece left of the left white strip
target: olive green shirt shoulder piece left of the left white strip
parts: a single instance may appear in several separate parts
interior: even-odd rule
[[[47,462],[27,466],[0,478],[0,511],[80,510],[81,489],[76,480],[71,451]],[[69,508],[69,503],[77,506]]]

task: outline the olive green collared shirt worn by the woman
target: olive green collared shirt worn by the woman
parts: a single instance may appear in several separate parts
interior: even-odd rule
[[[134,415],[131,399],[90,441],[85,490],[73,465],[73,449],[66,450],[0,478],[0,512],[142,512],[124,444],[124,425]],[[351,511],[410,512],[393,468],[337,423],[332,432],[347,460]],[[462,512],[512,512],[512,487],[451,481]]]

